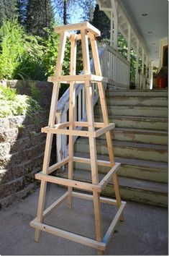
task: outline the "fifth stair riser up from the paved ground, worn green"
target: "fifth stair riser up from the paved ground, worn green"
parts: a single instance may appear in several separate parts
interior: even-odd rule
[[[103,119],[96,119],[96,121],[103,121]],[[166,121],[140,121],[127,119],[109,119],[110,123],[115,123],[115,127],[127,127],[137,129],[159,129],[168,130],[168,122]]]

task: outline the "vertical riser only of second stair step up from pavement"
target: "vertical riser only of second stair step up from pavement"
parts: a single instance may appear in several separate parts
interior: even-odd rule
[[[76,170],[91,171],[91,165],[84,163],[83,165],[81,163],[74,163],[74,168]],[[109,171],[109,167],[105,166],[98,166],[98,169],[100,174]],[[168,169],[146,168],[142,166],[121,164],[118,175],[133,179],[148,180],[151,182],[168,182]]]

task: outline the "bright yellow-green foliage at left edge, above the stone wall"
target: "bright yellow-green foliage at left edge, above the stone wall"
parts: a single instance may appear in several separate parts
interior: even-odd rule
[[[0,79],[12,79],[24,54],[23,29],[17,20],[3,22],[0,28]]]

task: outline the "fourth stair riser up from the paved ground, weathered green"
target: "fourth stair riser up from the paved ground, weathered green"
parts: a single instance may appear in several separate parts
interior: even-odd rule
[[[167,135],[135,134],[134,132],[112,132],[114,140],[168,145]]]

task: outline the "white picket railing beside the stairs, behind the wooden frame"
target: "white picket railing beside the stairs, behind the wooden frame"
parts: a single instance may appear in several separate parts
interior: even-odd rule
[[[104,77],[108,77],[108,85],[115,89],[129,88],[129,62],[121,56],[111,46],[99,48],[99,57],[101,60],[101,70]],[[93,59],[91,59],[91,72],[94,72]],[[81,72],[83,74],[83,72]],[[106,88],[106,85],[104,85]],[[99,98],[99,91],[96,83],[92,84],[93,89],[93,106]],[[57,123],[68,121],[69,110],[69,88],[58,101],[57,106]],[[84,84],[76,84],[76,106],[75,121],[86,121],[86,98]],[[81,129],[82,127],[77,127]],[[77,137],[74,138],[74,142]],[[65,158],[68,154],[68,136],[57,135],[57,155],[58,162]]]

